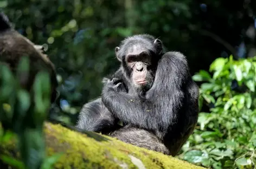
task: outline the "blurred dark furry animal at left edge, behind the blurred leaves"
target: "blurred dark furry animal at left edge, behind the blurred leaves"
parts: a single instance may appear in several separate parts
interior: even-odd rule
[[[0,13],[0,62],[9,66],[12,72],[16,73],[18,63],[22,56],[29,57],[29,75],[23,75],[20,79],[23,88],[30,90],[33,85],[35,75],[40,70],[47,70],[52,82],[52,102],[56,99],[56,73],[54,64],[47,55],[42,53],[42,46],[37,46],[28,38],[25,38],[12,28],[8,17]]]

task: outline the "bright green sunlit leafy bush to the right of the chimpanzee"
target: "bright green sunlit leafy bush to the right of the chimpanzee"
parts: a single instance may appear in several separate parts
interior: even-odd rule
[[[193,76],[203,82],[199,127],[183,146],[180,158],[212,168],[253,168],[256,163],[256,57],[234,61],[218,58],[210,75],[201,70]]]

